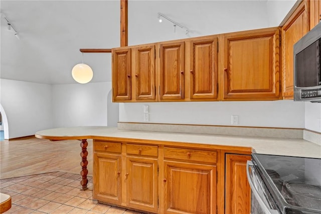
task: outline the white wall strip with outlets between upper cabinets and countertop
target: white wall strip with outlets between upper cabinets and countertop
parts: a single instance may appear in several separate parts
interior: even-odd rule
[[[150,123],[231,126],[238,115],[238,126],[304,128],[304,102],[292,100],[121,103],[119,121],[143,123],[144,104]]]

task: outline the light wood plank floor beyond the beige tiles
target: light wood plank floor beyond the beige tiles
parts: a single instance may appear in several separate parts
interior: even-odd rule
[[[28,137],[0,142],[0,178],[12,178],[46,172],[81,171],[78,140],[50,141]],[[88,140],[88,175],[92,176],[92,140]]]

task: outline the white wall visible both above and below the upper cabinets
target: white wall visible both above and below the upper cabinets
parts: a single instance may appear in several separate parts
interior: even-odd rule
[[[157,12],[188,27],[191,37],[278,26],[294,3],[277,2],[267,7],[266,1],[130,1],[128,41],[133,45],[188,37],[178,28],[174,33],[167,20],[157,23]],[[121,103],[119,121],[144,122],[144,104]],[[147,104],[152,123],[231,125],[231,115],[238,115],[238,126],[304,128],[304,102],[291,100]]]

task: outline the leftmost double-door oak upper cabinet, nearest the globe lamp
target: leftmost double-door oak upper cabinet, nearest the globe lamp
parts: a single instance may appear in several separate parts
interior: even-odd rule
[[[112,49],[114,102],[155,101],[155,45]]]

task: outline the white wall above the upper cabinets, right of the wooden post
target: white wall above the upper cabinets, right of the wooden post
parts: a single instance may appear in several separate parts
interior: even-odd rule
[[[162,13],[187,27],[174,27]],[[128,45],[267,28],[265,1],[129,1]],[[273,26],[275,27],[275,26]]]

